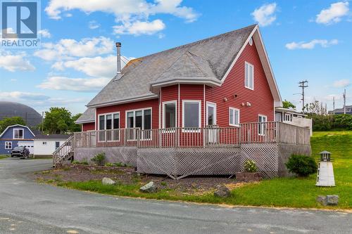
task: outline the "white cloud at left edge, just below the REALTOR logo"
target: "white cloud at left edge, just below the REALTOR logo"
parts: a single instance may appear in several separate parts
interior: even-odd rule
[[[26,53],[13,54],[9,51],[0,51],[0,68],[15,71],[34,71],[35,67],[25,59]]]

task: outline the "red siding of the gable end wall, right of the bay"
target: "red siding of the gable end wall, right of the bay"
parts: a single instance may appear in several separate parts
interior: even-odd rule
[[[244,87],[245,62],[254,66],[254,90]],[[227,101],[224,98],[227,98]],[[268,121],[274,120],[274,99],[254,42],[252,46],[247,44],[244,48],[222,86],[206,86],[206,101],[217,104],[219,126],[229,126],[229,107],[239,109],[241,123],[258,122],[259,114],[266,115]],[[250,107],[242,106],[242,103],[247,102],[251,103]]]

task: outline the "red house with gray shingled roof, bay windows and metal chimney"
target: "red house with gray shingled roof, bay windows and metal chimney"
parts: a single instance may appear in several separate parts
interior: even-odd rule
[[[82,133],[75,145],[90,152],[92,145],[135,146],[135,155],[145,156],[153,148],[278,142],[275,108],[282,100],[258,25],[136,58],[121,71],[119,67],[77,119]]]

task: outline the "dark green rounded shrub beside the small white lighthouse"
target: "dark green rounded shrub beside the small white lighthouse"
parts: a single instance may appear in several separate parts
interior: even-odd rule
[[[291,155],[289,161],[285,164],[289,172],[298,176],[309,176],[317,172],[317,163],[313,157],[306,155]]]

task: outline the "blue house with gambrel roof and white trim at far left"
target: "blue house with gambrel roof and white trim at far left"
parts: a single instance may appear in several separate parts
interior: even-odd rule
[[[28,126],[15,124],[8,126],[0,135],[0,154],[8,155],[16,146],[26,146],[30,154],[34,152],[33,131]]]

